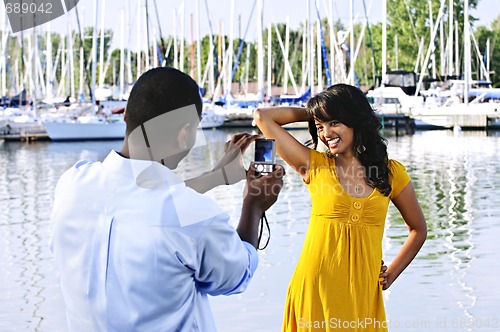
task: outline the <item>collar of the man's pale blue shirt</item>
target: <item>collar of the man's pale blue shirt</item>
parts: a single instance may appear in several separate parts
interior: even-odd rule
[[[134,179],[136,185],[144,189],[185,186],[184,181],[168,167],[156,161],[125,158],[115,150],[108,154],[102,165],[110,172]]]

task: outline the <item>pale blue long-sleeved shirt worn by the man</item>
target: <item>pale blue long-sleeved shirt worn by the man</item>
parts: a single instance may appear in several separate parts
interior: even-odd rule
[[[258,264],[228,219],[159,163],[76,163],[51,218],[70,331],[215,331],[207,294],[242,292]]]

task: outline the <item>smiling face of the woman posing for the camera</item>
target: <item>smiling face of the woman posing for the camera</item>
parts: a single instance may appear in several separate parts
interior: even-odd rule
[[[323,122],[314,119],[318,137],[329,149],[332,154],[344,154],[352,151],[354,144],[354,130],[345,124],[330,120]]]

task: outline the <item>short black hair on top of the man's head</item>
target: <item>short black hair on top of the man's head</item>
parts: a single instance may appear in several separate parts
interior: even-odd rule
[[[193,104],[201,118],[199,87],[189,75],[170,67],[151,69],[139,77],[130,92],[127,135],[148,120]]]

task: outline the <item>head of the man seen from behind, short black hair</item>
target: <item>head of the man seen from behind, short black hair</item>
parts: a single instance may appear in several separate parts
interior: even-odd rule
[[[194,145],[201,112],[199,88],[191,77],[168,67],[147,71],[127,102],[126,154],[177,167]]]

